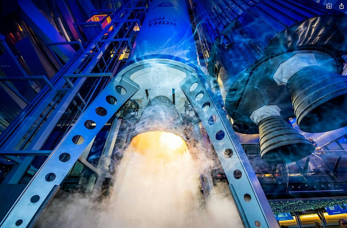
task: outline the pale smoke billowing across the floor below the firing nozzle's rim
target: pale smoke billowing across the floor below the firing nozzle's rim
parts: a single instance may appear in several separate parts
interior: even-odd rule
[[[59,197],[37,227],[242,227],[227,184],[215,186],[206,207],[199,180],[206,165],[188,150],[162,157],[129,146],[108,197]]]

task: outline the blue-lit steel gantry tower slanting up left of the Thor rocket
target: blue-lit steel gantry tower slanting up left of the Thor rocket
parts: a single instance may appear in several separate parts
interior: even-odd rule
[[[122,6],[114,10],[114,18],[111,20],[110,24],[95,37],[95,42],[91,42],[85,49],[81,48],[74,57],[62,66],[59,72],[54,75],[50,81],[45,81],[48,86],[43,87],[33,100],[26,101],[23,98],[26,103],[30,104],[14,121],[12,121],[1,135],[1,150],[40,150],[46,138],[56,126],[68,105],[76,99],[76,96],[77,99],[82,100],[82,105],[84,106],[84,108],[82,108],[83,110],[90,105],[89,100],[84,100],[84,98],[79,95],[79,89],[88,77],[99,77],[95,79],[99,81],[102,77],[110,77],[110,79],[112,79],[120,62],[120,60],[118,60],[119,56],[123,52],[124,47],[130,44],[130,40],[134,33],[136,33],[133,28],[138,21],[132,18],[139,18],[146,13],[146,8],[144,7],[146,6],[146,1],[139,4],[140,2],[141,1],[121,1]],[[111,27],[113,27],[113,29],[109,31]],[[119,37],[120,30],[124,32],[122,33],[124,34],[122,37]],[[67,43],[78,44],[81,47],[79,42]],[[49,43],[48,46],[51,47],[52,45],[62,44],[65,43]],[[113,45],[112,57],[105,59],[104,56],[110,56],[108,50],[110,45]],[[99,62],[102,62],[105,67],[100,69],[101,73],[92,73],[95,72],[95,66],[98,65]],[[34,78],[28,76],[27,79],[40,80],[41,77]],[[7,78],[2,80],[7,80]],[[60,96],[62,96],[61,100],[58,99]],[[53,107],[54,110],[51,110]],[[45,110],[47,109],[51,111],[46,112]],[[37,122],[40,124],[37,124]],[[38,129],[40,129],[38,134],[34,136],[33,133]],[[31,143],[23,147],[21,143],[18,143],[22,140]],[[26,143],[23,144],[26,145]],[[15,159],[14,156],[10,158]],[[23,164],[24,166],[28,166],[32,161],[32,159],[29,159],[25,155],[16,160],[25,160],[27,164]]]

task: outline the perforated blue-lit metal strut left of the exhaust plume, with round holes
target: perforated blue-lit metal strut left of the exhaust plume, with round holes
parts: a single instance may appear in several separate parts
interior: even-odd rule
[[[138,89],[136,83],[119,75],[106,86],[37,171],[1,221],[1,227],[29,224],[54,186],[60,185],[96,134]]]

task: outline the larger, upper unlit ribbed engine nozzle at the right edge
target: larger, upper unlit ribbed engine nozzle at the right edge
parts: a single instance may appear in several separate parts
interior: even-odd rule
[[[347,126],[347,77],[308,66],[286,83],[297,123],[302,131],[317,133]],[[342,114],[344,115],[344,114]]]

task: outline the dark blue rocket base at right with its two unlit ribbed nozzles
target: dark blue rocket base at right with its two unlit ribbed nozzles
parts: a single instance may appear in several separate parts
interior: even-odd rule
[[[293,162],[314,151],[280,116],[296,117],[299,128],[310,133],[347,126],[341,116],[347,111],[343,13],[296,0],[191,2],[193,12],[218,15],[211,20],[194,15],[200,37],[209,44],[204,47],[209,73],[235,131],[260,134],[265,161]],[[266,106],[277,106],[277,117],[254,122],[254,112],[259,119]]]

